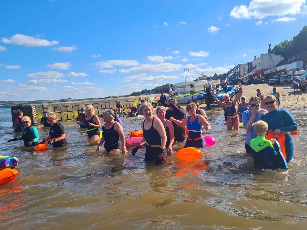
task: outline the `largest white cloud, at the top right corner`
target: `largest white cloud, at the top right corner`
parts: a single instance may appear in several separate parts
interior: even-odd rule
[[[235,6],[229,14],[237,19],[262,19],[269,16],[295,15],[304,11],[305,0],[252,0],[249,6]]]

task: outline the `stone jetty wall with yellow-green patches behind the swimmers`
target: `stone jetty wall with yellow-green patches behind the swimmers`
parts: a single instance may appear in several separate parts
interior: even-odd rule
[[[168,94],[165,94],[166,96]],[[76,120],[80,109],[86,105],[93,105],[95,109],[95,114],[100,115],[103,109],[108,109],[111,106],[115,106],[117,100],[122,103],[126,113],[130,112],[128,106],[138,106],[138,98],[148,98],[150,102],[155,102],[160,99],[161,94],[150,94],[141,95],[134,97],[121,97],[121,98],[107,98],[107,99],[95,99],[95,100],[81,100],[81,101],[71,101],[71,102],[51,102],[45,104],[31,104],[31,105],[14,105],[11,108],[12,113],[12,123],[14,119],[18,116],[17,112],[22,111],[24,116],[28,116],[32,120],[32,125],[39,125],[41,118],[43,117],[43,112],[48,113],[55,112],[57,116],[57,121],[73,121]],[[33,117],[33,107],[35,107],[36,117]],[[129,110],[129,111],[128,111]]]

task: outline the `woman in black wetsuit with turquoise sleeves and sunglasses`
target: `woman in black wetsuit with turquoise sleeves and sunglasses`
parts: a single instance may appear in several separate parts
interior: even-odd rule
[[[15,140],[23,140],[23,144],[25,146],[35,146],[38,144],[38,132],[37,129],[34,128],[31,124],[31,118],[30,117],[22,117],[21,119],[23,130],[22,130],[22,136],[18,136],[17,138],[13,138],[8,140],[8,142],[15,141]]]

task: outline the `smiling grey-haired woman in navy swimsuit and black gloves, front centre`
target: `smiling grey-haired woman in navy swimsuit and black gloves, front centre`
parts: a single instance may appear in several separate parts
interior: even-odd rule
[[[140,109],[140,114],[143,114],[145,120],[141,122],[143,130],[143,139],[140,144],[135,147],[131,154],[134,156],[141,146],[145,145],[146,161],[154,161],[155,164],[160,164],[167,159],[166,155],[166,133],[160,119],[153,117],[153,106],[150,102],[143,102]]]

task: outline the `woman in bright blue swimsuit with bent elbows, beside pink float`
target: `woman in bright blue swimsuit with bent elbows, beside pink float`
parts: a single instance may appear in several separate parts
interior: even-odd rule
[[[171,117],[169,120],[175,122],[177,125],[184,127],[188,127],[188,138],[185,142],[184,148],[187,147],[195,147],[195,148],[203,148],[205,145],[204,137],[201,131],[210,130],[211,125],[208,121],[201,115],[196,113],[196,104],[190,103],[187,105],[186,110],[190,116],[186,117],[183,121],[178,121]]]

